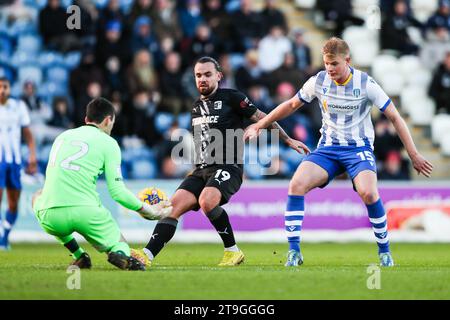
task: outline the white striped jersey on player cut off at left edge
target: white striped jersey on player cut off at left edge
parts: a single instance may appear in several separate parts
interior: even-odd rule
[[[28,108],[22,100],[9,98],[0,105],[0,163],[22,163],[22,128],[30,125]]]

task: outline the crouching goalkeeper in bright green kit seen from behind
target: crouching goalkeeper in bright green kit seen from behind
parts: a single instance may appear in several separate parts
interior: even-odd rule
[[[111,197],[122,206],[157,220],[170,214],[170,202],[149,205],[140,201],[123,183],[121,151],[110,137],[115,114],[103,98],[92,100],[86,110],[86,125],[60,134],[50,151],[42,192],[33,197],[33,210],[42,228],[55,236],[72,253],[72,263],[90,268],[89,255],[78,245],[73,233],[81,234],[98,251],[108,254],[108,262],[120,269],[145,270],[131,257],[111,213],[102,206],[96,191],[104,172]]]

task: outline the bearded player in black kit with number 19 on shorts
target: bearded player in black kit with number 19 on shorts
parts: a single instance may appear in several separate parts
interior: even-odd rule
[[[230,129],[231,132],[243,130],[245,119],[256,122],[265,113],[258,110],[241,92],[219,88],[222,73],[215,59],[200,58],[194,66],[194,73],[200,93],[200,98],[192,108],[196,169],[173,195],[172,213],[158,221],[147,246],[142,251],[134,251],[134,256],[147,266],[172,239],[178,219],[189,210],[199,208],[222,238],[225,252],[219,266],[235,266],[244,260],[243,252],[236,245],[228,214],[221,207],[242,184],[243,140],[241,137],[241,142],[236,146],[235,143],[230,144],[226,136]],[[272,128],[279,129],[280,138],[288,146],[299,153],[309,153],[306,145],[291,139],[277,123]],[[218,142],[218,136],[223,137],[221,142]],[[212,148],[213,145],[219,147]]]

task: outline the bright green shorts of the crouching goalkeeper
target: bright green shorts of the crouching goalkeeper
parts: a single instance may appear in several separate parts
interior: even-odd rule
[[[77,232],[100,252],[122,251],[130,255],[130,247],[119,226],[103,206],[50,208],[36,212],[36,217],[42,228],[62,244],[70,241],[72,233]]]

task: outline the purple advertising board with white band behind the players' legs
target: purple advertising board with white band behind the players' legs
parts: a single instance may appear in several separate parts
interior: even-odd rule
[[[223,206],[235,231],[263,231],[284,228],[288,181],[254,184],[245,182],[230,203]],[[382,183],[380,196],[389,206],[392,201],[449,201],[447,183]],[[351,230],[370,228],[367,209],[349,182],[333,182],[315,189],[305,197],[303,229]],[[199,211],[183,217],[184,230],[211,230]]]

